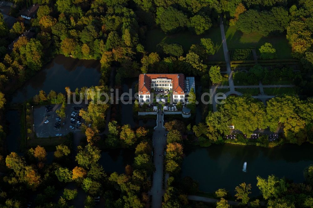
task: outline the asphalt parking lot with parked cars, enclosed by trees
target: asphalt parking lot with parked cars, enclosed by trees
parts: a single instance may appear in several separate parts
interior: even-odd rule
[[[85,121],[79,118],[78,114],[79,108],[85,109],[85,105],[66,105],[64,119],[60,119],[55,112],[61,107],[61,104],[47,107],[41,106],[34,109],[34,128],[37,137],[64,136],[69,132],[81,131],[80,126]],[[47,109],[48,112],[46,112]]]

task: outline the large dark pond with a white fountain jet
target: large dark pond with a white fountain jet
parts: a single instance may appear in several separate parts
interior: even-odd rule
[[[231,195],[240,183],[251,183],[251,196],[260,195],[256,176],[267,178],[274,174],[294,182],[304,181],[303,170],[313,164],[313,145],[283,145],[275,148],[240,145],[197,147],[186,154],[182,177],[190,176],[199,182],[199,190],[213,193],[225,188]],[[247,172],[243,164],[247,162]]]

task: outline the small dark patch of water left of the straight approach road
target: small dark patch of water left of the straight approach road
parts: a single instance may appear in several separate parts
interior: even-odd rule
[[[131,149],[112,149],[101,152],[99,163],[104,171],[110,175],[113,172],[125,173],[125,166],[132,165],[135,151]]]

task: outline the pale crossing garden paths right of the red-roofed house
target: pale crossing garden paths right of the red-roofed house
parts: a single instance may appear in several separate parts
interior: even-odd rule
[[[211,87],[212,89],[212,105],[213,105],[213,111],[217,111],[217,103],[215,100],[216,96],[216,90],[217,89],[226,89],[229,88],[229,91],[225,93],[226,96],[228,95],[242,95],[241,92],[237,92],[235,88],[259,88],[259,95],[252,96],[253,98],[261,100],[264,105],[266,104],[266,101],[270,98],[273,98],[275,96],[273,95],[265,95],[264,94],[264,89],[265,87],[295,87],[294,85],[263,85],[261,82],[259,82],[259,85],[248,85],[248,86],[235,86],[233,82],[233,71],[230,67],[230,57],[229,57],[229,51],[227,47],[227,42],[226,42],[226,35],[225,35],[225,29],[224,29],[224,24],[223,24],[223,17],[220,16],[220,29],[221,29],[221,36],[222,36],[222,44],[223,44],[223,52],[224,52],[224,57],[225,57],[225,62],[226,62],[226,72],[228,74],[228,86],[225,85],[213,85]],[[254,51],[254,61],[257,62],[257,56]]]

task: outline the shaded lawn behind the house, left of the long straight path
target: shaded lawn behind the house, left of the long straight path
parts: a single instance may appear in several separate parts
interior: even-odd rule
[[[182,45],[184,53],[189,51],[192,44],[199,44],[201,38],[211,38],[215,45],[216,53],[208,57],[208,61],[224,61],[222,37],[219,27],[212,27],[203,35],[196,35],[190,31],[178,32],[176,34],[165,34],[161,29],[153,29],[146,33],[145,49],[149,53],[156,52],[156,45],[165,43],[177,43]]]

